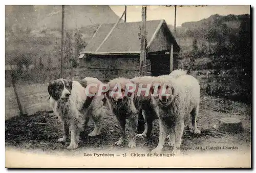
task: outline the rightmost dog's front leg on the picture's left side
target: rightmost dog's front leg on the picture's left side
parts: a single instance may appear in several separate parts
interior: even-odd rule
[[[163,120],[159,119],[159,141],[158,141],[157,147],[153,149],[151,153],[161,152],[165,143],[166,135],[167,135],[167,126],[165,125]]]

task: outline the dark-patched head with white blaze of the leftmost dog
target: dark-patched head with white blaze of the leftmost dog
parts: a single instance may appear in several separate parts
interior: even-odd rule
[[[48,93],[54,100],[67,102],[71,95],[72,81],[67,79],[57,79],[48,85]]]

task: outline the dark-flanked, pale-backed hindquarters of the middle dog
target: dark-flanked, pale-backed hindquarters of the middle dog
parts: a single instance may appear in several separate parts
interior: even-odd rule
[[[145,120],[145,128],[141,134],[137,134],[138,138],[149,138],[151,136],[151,131],[153,128],[153,121],[158,118],[154,104],[152,103],[151,93],[148,93],[148,96],[145,96],[145,92],[141,90],[141,94],[137,95],[139,87],[143,89],[151,88],[152,81],[155,77],[153,76],[139,76],[131,79],[131,81],[136,84],[136,91],[134,96],[134,104],[138,110],[139,115],[142,114]]]

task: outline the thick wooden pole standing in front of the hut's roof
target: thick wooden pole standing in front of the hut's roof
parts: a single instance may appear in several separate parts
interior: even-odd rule
[[[144,76],[144,68],[146,65],[146,6],[142,6],[142,25],[141,25],[141,53],[140,53],[140,69],[139,75]]]

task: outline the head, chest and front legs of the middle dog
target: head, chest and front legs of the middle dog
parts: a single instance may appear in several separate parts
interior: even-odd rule
[[[122,94],[111,95],[113,89],[116,88],[117,84],[120,84]],[[123,96],[125,91],[125,86],[127,83],[132,83],[130,79],[126,78],[115,78],[109,81],[109,92],[106,93],[106,98],[110,104],[112,112],[116,115],[120,127],[120,139],[115,142],[116,145],[121,145],[126,138],[125,134],[125,123],[127,121],[129,143],[128,147],[136,147],[135,135],[136,135],[136,126],[138,123],[138,111],[135,108],[133,99],[134,93],[130,93],[129,96]],[[120,89],[120,88],[119,88]],[[115,91],[115,90],[114,90]]]

